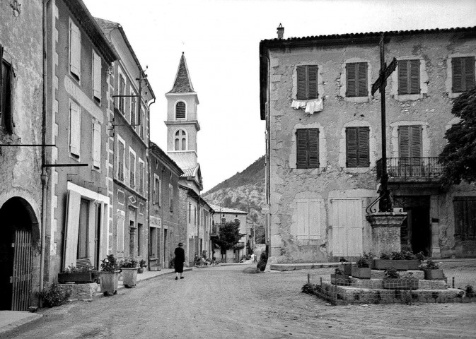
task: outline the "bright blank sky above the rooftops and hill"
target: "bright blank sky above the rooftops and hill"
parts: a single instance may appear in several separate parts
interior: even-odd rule
[[[265,154],[259,43],[284,37],[476,26],[475,0],[83,0],[122,25],[156,95],[151,141],[166,151],[165,93],[182,52],[198,94],[204,192]]]

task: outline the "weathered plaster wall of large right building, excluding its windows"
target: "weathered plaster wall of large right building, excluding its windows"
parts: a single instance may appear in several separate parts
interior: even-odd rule
[[[445,126],[454,121],[451,115],[451,97],[448,93],[448,57],[472,55],[476,52],[476,40],[458,34],[418,35],[415,37],[391,37],[386,44],[388,60],[419,59],[421,65],[422,94],[398,96],[396,78],[389,78],[387,107],[387,153],[398,156],[397,126],[422,124],[424,156],[438,156],[445,144]],[[279,262],[325,261],[332,252],[332,196],[361,198],[362,215],[368,203],[377,196],[376,160],[381,157],[381,100],[375,97],[345,97],[345,63],[366,61],[368,83],[378,78],[380,54],[378,44],[359,44],[324,47],[286,47],[269,52],[269,143],[270,143],[270,191],[271,191],[271,247],[272,256]],[[319,97],[323,99],[323,111],[306,114],[303,109],[292,109],[296,97],[296,66],[318,64]],[[395,72],[396,73],[396,72]],[[394,73],[394,74],[395,74]],[[450,77],[451,78],[451,77]],[[370,128],[371,165],[365,168],[345,167],[345,128],[368,126]],[[298,128],[320,130],[320,167],[296,169],[296,137]],[[476,195],[474,186],[458,186],[465,194]],[[451,232],[453,202],[450,194],[440,194],[439,215],[441,222],[440,242],[454,250]],[[315,199],[320,206],[320,237],[298,241],[292,230],[295,220],[296,199]],[[371,246],[371,230],[362,221],[362,251]],[[448,229],[448,231],[446,230]],[[320,238],[320,239],[318,239]],[[450,251],[450,252],[451,252]],[[442,249],[443,252],[443,249]],[[450,253],[448,252],[448,253]]]

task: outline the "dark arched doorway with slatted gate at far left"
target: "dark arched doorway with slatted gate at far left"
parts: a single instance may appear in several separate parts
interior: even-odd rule
[[[0,208],[0,310],[30,306],[33,254],[38,222],[28,201],[10,198]]]

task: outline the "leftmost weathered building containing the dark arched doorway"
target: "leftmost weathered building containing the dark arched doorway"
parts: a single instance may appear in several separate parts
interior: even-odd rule
[[[0,310],[24,311],[37,304],[40,262],[48,257],[41,250],[42,52],[42,1],[29,1],[22,8],[2,1]]]

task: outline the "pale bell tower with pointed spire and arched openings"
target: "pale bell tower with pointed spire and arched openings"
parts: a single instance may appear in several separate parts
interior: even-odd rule
[[[167,154],[182,169],[197,166],[198,95],[193,89],[185,54],[178,64],[167,98]]]

